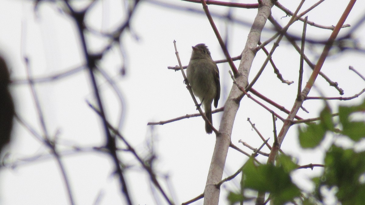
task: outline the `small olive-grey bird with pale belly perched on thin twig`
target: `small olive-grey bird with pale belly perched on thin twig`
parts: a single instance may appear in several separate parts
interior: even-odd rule
[[[217,108],[220,97],[219,70],[210,51],[204,43],[192,46],[193,53],[187,67],[188,82],[196,97],[203,105],[205,116],[212,123],[212,102]],[[213,123],[212,123],[213,124]],[[212,127],[205,122],[205,131],[212,133]]]

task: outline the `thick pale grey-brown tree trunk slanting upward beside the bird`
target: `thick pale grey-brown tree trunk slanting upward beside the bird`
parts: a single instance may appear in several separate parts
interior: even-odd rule
[[[257,16],[247,37],[246,46],[242,51],[241,62],[238,67],[236,80],[243,87],[248,85],[250,68],[256,54],[255,48],[257,47],[261,31],[264,28],[266,20],[271,15],[271,8],[273,7],[271,0],[262,0],[261,3],[261,7],[258,8]],[[242,11],[244,12],[244,10]],[[231,143],[233,123],[242,98],[240,97],[241,95],[242,92],[233,84],[226,104],[224,105],[223,117],[219,126],[220,134],[216,137],[207,183],[204,189],[204,205],[218,205],[220,189],[216,187],[216,184],[222,180],[228,147]]]

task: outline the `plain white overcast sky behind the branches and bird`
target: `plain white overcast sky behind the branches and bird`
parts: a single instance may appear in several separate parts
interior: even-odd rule
[[[110,28],[123,20],[123,5],[119,5],[123,1],[110,0],[105,2],[107,3],[104,4],[104,9],[110,12],[104,12],[103,18],[101,18],[101,4],[95,7],[95,10],[87,17],[88,26],[95,29],[100,29],[101,25],[103,28]],[[201,9],[200,4],[183,1],[166,2]],[[291,11],[296,8],[296,4],[290,0],[279,2]],[[306,1],[301,11],[307,9],[314,2],[312,0]],[[252,1],[252,3],[255,2]],[[335,25],[346,4],[347,2],[342,0],[327,0],[320,7],[308,13],[308,20],[325,26]],[[81,3],[80,7],[82,7]],[[0,0],[0,19],[2,19],[0,21],[0,50],[9,61],[13,80],[26,78],[26,67],[22,61],[22,55],[29,57],[32,74],[36,77],[55,74],[80,66],[84,62],[74,22],[64,14],[59,13],[57,8],[58,6],[55,4],[42,3],[39,5],[37,15],[34,15],[32,1]],[[224,13],[228,9],[216,6],[209,8],[211,11],[220,13]],[[364,8],[365,3],[358,1],[346,23],[356,22],[363,15]],[[236,18],[252,22],[257,10],[235,8],[233,13]],[[273,9],[272,15],[282,26],[289,20],[288,17],[281,18],[285,14],[277,8]],[[215,22],[224,36],[224,22],[219,19],[215,19]],[[268,26],[270,23],[266,25]],[[289,31],[300,34],[302,27],[303,24],[299,22],[293,25]],[[173,40],[177,41],[177,48],[183,65],[187,65],[189,61],[191,46],[198,43],[205,43],[210,48],[213,59],[223,59],[224,57],[207,19],[203,15],[162,8],[142,1],[133,16],[131,28],[139,40],[134,39],[128,31],[123,36],[122,43],[127,54],[127,58],[124,59],[127,63],[126,76],[119,75],[119,68],[123,59],[120,57],[121,54],[118,49],[112,49],[101,62],[103,69],[113,77],[122,91],[123,103],[118,101],[115,93],[100,74],[97,74],[97,80],[109,120],[116,124],[119,113],[123,111],[124,120],[120,131],[138,153],[144,156],[147,154],[145,140],[149,138],[151,128],[146,125],[147,122],[168,120],[196,113],[195,106],[183,84],[180,71],[174,72],[167,69],[167,66],[177,65]],[[326,40],[330,35],[330,31],[323,31],[311,26],[308,26],[307,31],[307,36],[310,38]],[[241,53],[248,32],[249,28],[247,27],[231,24],[229,30],[231,56],[237,56]],[[362,26],[354,34],[362,46],[364,44],[363,33],[364,27]],[[271,35],[268,31],[264,32],[262,41]],[[105,43],[100,39],[88,37],[88,45],[92,51],[99,50]],[[268,50],[270,48],[270,46],[267,47]],[[317,48],[316,50],[320,52],[322,49]],[[309,48],[306,51],[312,62],[315,62],[315,54],[318,53],[311,52]],[[251,68],[250,80],[260,69],[264,57],[265,54],[262,51],[257,53]],[[295,84],[291,86],[282,84],[273,74],[271,66],[267,66],[254,88],[290,109],[296,97],[299,55],[287,42],[282,42],[274,53],[273,59],[284,79],[294,81]],[[337,54],[327,59],[322,71],[331,80],[339,83],[339,86],[345,90],[345,97],[352,96],[363,89],[365,83],[356,74],[349,71],[348,66],[354,66],[355,69],[365,74],[364,60],[362,53]],[[239,62],[236,61],[235,63],[238,66]],[[232,82],[228,74],[228,66],[219,64],[218,67],[222,85],[219,107],[222,107]],[[306,65],[304,67],[304,83],[309,76],[310,68]],[[318,77],[318,81],[316,81],[316,88],[319,88],[329,97],[338,96],[338,92],[329,88],[327,82],[321,77]],[[54,82],[39,84],[36,89],[45,115],[47,129],[52,136],[58,133],[60,150],[69,150],[72,146],[101,146],[104,143],[100,119],[86,103],[86,100],[94,102],[87,71],[81,71],[71,77]],[[16,100],[17,113],[41,133],[29,86],[16,84],[12,85],[11,90]],[[318,96],[318,92],[312,89],[309,96]],[[353,102],[358,101],[360,99]],[[337,101],[330,103],[331,105],[338,104]],[[304,107],[310,113],[300,111],[299,116],[303,118],[315,117],[323,107],[323,102],[306,101]],[[286,117],[280,111],[277,113]],[[247,117],[255,123],[265,138],[270,138],[269,143],[272,144],[271,114],[247,97],[241,101],[233,129],[232,142],[249,153],[251,153],[250,150],[239,144],[238,140],[241,139],[253,147],[261,145],[262,142],[251,129]],[[219,119],[220,114],[213,115],[213,124],[216,128],[218,128]],[[277,132],[280,131],[281,125],[282,123],[278,120]],[[158,154],[158,159],[155,162],[156,171],[161,176],[169,175],[176,204],[181,204],[181,202],[188,201],[203,193],[215,143],[214,135],[205,134],[203,119],[195,117],[158,125],[154,127],[153,134]],[[329,139],[327,141],[329,142]],[[297,143],[296,127],[292,127],[284,140],[282,149],[287,154],[297,158],[300,165],[306,165],[308,163],[322,163],[326,144],[328,143],[323,143],[315,151],[302,150]],[[23,158],[49,152],[44,144],[31,136],[19,123],[14,126],[13,142],[7,151],[8,157],[4,160],[9,163],[20,162]],[[268,152],[268,149],[263,151]],[[259,156],[258,159],[262,162],[266,161],[266,158],[262,156]],[[138,165],[130,154],[122,155],[122,160],[129,165]],[[223,177],[233,174],[246,160],[246,156],[230,149]],[[107,155],[99,152],[83,152],[82,154],[67,155],[62,158],[62,161],[70,179],[76,204],[93,204],[100,192],[103,194],[100,204],[124,203],[119,192],[118,180],[115,177],[110,177],[113,165],[111,166],[111,160]],[[293,174],[293,180],[300,188],[311,190],[313,187],[307,179],[320,173],[321,170],[315,168],[313,171],[297,171]],[[154,201],[148,176],[141,171],[139,166],[128,171],[126,176],[134,204],[164,203],[159,194],[161,201]],[[239,180],[240,177],[237,177],[231,182],[224,183],[220,204],[227,204],[226,191],[238,190]],[[166,184],[162,178],[160,181],[162,184]],[[0,204],[68,203],[62,176],[53,158],[36,159],[14,169],[2,167],[0,187]],[[203,200],[195,202],[195,204],[202,203]]]

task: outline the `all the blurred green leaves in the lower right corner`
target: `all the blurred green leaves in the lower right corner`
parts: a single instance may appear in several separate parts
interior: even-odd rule
[[[355,143],[365,137],[365,122],[355,121],[354,115],[365,111],[365,101],[351,107],[340,106],[338,122],[334,123],[330,107],[320,112],[319,123],[311,123],[306,128],[299,128],[299,142],[303,148],[317,147],[326,133],[337,132]],[[337,126],[335,126],[337,125]],[[340,127],[342,130],[335,127]],[[332,144],[324,156],[324,172],[312,178],[316,185],[314,193],[301,193],[291,181],[290,173],[298,165],[290,156],[278,156],[277,165],[256,165],[249,159],[242,168],[240,192],[230,192],[231,204],[252,200],[246,198],[247,189],[270,193],[274,204],[285,204],[300,199],[303,205],[325,204],[322,187],[336,190],[335,197],[342,205],[365,204],[365,151],[354,151],[353,148],[342,148]],[[338,203],[338,204],[339,204]]]

